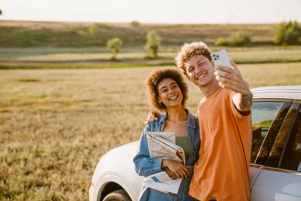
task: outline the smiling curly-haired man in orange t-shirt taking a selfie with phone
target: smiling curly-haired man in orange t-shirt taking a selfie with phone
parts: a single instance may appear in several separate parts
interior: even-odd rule
[[[197,113],[201,149],[194,166],[190,199],[248,200],[253,98],[249,84],[231,59],[232,68],[215,66],[203,42],[185,44],[176,61],[206,96]],[[146,123],[152,118],[150,114]]]

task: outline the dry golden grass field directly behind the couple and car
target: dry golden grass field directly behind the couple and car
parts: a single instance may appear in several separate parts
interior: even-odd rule
[[[250,86],[300,84],[301,63],[240,65]],[[154,68],[0,71],[0,199],[88,200],[108,150],[138,140]],[[200,90],[189,83],[188,109]]]

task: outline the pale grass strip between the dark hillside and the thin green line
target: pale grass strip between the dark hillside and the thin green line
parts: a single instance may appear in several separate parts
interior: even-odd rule
[[[211,47],[212,51],[218,51],[223,47]],[[301,61],[301,46],[272,46],[272,47],[245,47],[245,48],[226,48],[229,56],[237,63],[269,63],[269,62],[292,62]],[[180,46],[177,51],[180,50]],[[23,50],[24,51],[24,50]],[[174,63],[174,58],[177,55],[175,52],[159,52],[158,58],[153,59],[153,62],[169,62]],[[1,49],[0,49],[1,53]],[[21,54],[21,55],[20,55]],[[112,53],[45,53],[45,55],[22,55],[16,51],[6,52],[0,56],[0,62],[84,62],[92,61],[108,62],[112,57]],[[121,52],[117,54],[117,63],[147,63],[149,60],[143,59],[144,52]]]

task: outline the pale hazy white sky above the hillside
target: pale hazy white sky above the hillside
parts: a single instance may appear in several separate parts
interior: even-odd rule
[[[106,23],[301,23],[301,0],[0,0],[0,20]]]

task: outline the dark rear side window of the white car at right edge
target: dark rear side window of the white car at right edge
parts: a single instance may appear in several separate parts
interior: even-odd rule
[[[298,110],[279,167],[301,172],[301,109]]]

